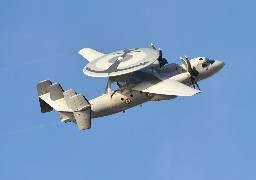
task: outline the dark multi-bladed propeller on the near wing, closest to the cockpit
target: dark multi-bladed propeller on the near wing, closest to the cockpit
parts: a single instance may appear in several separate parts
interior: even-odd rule
[[[185,55],[185,60],[182,57],[180,57],[180,60],[182,61],[182,63],[186,67],[186,70],[190,74],[190,81],[193,85],[193,88],[195,89],[197,87],[200,90],[199,85],[196,81],[196,77],[199,75],[199,72],[196,70],[196,68],[194,66],[193,67],[191,66],[191,63],[186,55]],[[195,85],[196,85],[196,87],[195,87]]]

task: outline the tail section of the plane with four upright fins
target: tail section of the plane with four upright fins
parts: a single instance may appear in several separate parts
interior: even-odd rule
[[[80,130],[91,128],[91,105],[73,89],[64,91],[60,84],[45,80],[37,84],[41,112],[58,111],[62,122],[74,122]]]

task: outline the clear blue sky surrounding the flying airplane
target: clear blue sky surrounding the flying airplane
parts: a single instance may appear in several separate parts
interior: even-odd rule
[[[0,1],[0,179],[256,179],[255,1]],[[96,119],[41,114],[44,79],[100,95],[77,52],[161,47],[226,63],[203,93]]]

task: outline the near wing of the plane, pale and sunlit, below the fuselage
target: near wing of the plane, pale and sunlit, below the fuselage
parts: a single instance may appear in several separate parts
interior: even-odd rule
[[[142,92],[161,94],[161,95],[174,95],[174,96],[193,96],[201,91],[186,86],[176,80],[166,79],[157,84],[150,82],[142,82],[132,89]]]

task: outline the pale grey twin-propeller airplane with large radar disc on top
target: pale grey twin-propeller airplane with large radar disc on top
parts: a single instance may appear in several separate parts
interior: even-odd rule
[[[37,84],[41,112],[53,109],[61,122],[73,122],[80,130],[91,128],[91,119],[112,115],[148,101],[171,100],[201,93],[198,82],[219,72],[224,62],[206,57],[180,58],[182,64],[168,64],[162,50],[133,48],[109,54],[91,48],[78,52],[89,63],[84,74],[107,77],[104,93],[92,100],[75,90],[64,91],[59,83],[44,80]],[[118,88],[112,90],[112,83]]]

